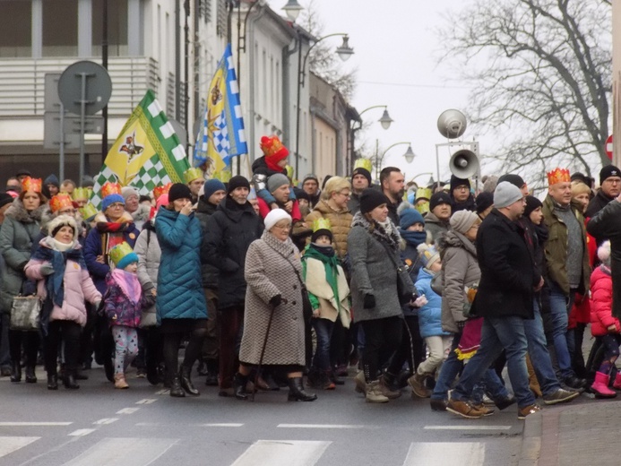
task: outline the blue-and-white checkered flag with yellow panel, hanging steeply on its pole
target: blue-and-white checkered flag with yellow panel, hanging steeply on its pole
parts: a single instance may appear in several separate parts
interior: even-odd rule
[[[204,115],[194,146],[194,166],[208,162],[212,175],[229,166],[233,157],[248,153],[230,44],[211,80]]]

